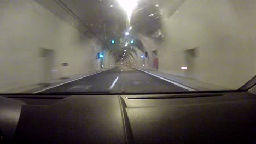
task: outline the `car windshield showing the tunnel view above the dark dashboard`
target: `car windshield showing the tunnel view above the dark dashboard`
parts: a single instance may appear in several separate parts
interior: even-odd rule
[[[0,93],[236,90],[256,1],[2,0]]]

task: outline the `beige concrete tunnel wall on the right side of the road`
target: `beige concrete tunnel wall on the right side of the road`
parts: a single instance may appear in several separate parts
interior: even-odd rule
[[[163,46],[139,36],[149,53],[145,68],[153,68],[156,49],[159,71],[228,89],[256,74],[256,1],[187,0],[168,19],[162,17],[162,27]],[[142,67],[137,58],[131,61]]]

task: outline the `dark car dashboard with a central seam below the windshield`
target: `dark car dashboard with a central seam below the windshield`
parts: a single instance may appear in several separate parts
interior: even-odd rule
[[[3,95],[1,141],[255,143],[256,95]]]

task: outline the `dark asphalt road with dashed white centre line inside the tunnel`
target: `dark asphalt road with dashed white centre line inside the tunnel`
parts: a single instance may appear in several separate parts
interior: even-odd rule
[[[104,92],[125,93],[186,92],[187,89],[131,67],[115,67],[101,73],[50,88],[40,93]]]

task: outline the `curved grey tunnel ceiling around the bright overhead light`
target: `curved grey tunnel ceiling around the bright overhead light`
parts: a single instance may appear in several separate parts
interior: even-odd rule
[[[165,18],[162,16],[163,10],[161,9],[166,3],[164,0],[138,0],[131,15],[130,27],[132,29],[127,25],[127,15],[120,7],[119,0],[54,1],[71,11],[84,27],[89,28],[112,53],[115,61],[121,59],[124,50],[126,50],[126,60],[133,57],[132,53],[137,53],[133,47],[137,47],[142,52],[145,51],[142,41],[137,37],[138,34],[161,40],[158,34],[161,32],[162,21]],[[180,1],[168,0],[168,2],[175,4]],[[127,31],[129,35],[125,35]],[[86,32],[85,34],[88,35]],[[115,44],[111,43],[112,39],[115,40]],[[135,40],[133,44],[131,44],[132,39]]]

